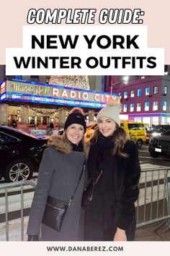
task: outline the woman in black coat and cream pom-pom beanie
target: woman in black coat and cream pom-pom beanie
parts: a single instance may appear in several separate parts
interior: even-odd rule
[[[132,241],[140,165],[138,148],[120,127],[120,105],[110,102],[97,115],[98,129],[91,141],[89,177],[97,180],[86,210],[87,241]]]

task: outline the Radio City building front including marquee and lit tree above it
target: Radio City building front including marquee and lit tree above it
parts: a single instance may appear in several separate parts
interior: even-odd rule
[[[6,76],[0,65],[0,124],[63,127],[71,107],[84,108],[87,121],[104,106],[110,95],[102,93],[102,76]],[[56,82],[56,83],[55,83]],[[75,86],[74,86],[75,85]]]

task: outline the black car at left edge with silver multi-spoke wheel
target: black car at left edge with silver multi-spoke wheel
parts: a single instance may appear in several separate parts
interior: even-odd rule
[[[38,171],[46,137],[38,139],[27,132],[0,125],[0,178],[6,182],[31,179]]]

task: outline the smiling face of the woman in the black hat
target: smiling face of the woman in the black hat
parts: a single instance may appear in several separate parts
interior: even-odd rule
[[[66,136],[73,144],[79,145],[84,137],[84,127],[81,124],[71,124],[66,129]]]

